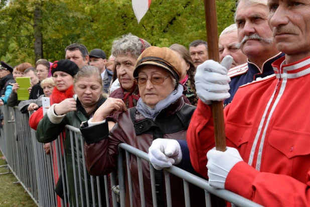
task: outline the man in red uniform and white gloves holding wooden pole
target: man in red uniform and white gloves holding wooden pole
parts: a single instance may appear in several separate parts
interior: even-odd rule
[[[157,149],[170,155],[164,154],[166,160],[178,158],[177,164],[184,166],[182,162],[188,158],[184,146],[188,144],[193,167],[208,176],[211,186],[263,206],[310,206],[310,1],[268,0],[268,8],[275,46],[285,57],[272,63],[274,75],[240,87],[224,109],[226,151],[212,149],[210,103],[229,95],[229,64],[224,67],[213,60],[197,68],[195,84],[200,99],[187,142],[170,140],[177,143],[162,142],[165,147]],[[204,77],[205,68],[208,78]]]

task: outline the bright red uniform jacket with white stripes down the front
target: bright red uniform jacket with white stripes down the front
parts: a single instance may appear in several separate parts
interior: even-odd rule
[[[224,110],[227,146],[244,160],[229,172],[225,189],[264,206],[310,206],[310,57],[283,61],[272,64],[275,75],[241,86]],[[207,177],[214,129],[212,110],[201,100],[187,136],[192,165]]]

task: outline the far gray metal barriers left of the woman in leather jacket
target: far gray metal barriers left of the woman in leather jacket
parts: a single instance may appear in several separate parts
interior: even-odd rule
[[[108,194],[104,195],[104,203],[101,202],[100,190],[102,188],[100,188],[99,177],[89,175],[87,177],[84,153],[81,153],[84,141],[78,129],[74,128],[78,130],[77,133],[70,130],[70,141],[73,143],[72,150],[77,149],[77,152],[73,153],[75,156],[72,157],[71,162],[74,165],[77,157],[83,158],[83,165],[79,167],[79,170],[73,170],[76,199],[69,200],[66,193],[64,193],[64,199],[60,199],[54,190],[61,174],[63,174],[61,179],[64,184],[60,186],[64,192],[69,194],[70,191],[67,169],[69,160],[66,159],[66,148],[63,147],[65,146],[64,140],[58,137],[53,141],[51,152],[47,155],[43,149],[44,144],[36,140],[35,130],[29,127],[29,114],[22,114],[17,108],[7,106],[1,107],[1,111],[4,114],[5,125],[0,131],[0,150],[8,164],[0,167],[7,167],[7,173],[15,175],[18,179],[17,183],[25,188],[38,206],[109,206]],[[78,165],[80,165],[79,162]],[[83,169],[83,173],[80,169]],[[83,177],[82,174],[84,174]],[[107,176],[104,176],[104,179],[106,180],[105,183],[108,183]],[[83,184],[81,183],[82,180],[84,180]],[[88,185],[91,187],[88,188]],[[108,186],[103,185],[103,189],[103,192],[107,192]],[[73,196],[70,195],[69,197]],[[84,197],[85,200],[83,200]]]

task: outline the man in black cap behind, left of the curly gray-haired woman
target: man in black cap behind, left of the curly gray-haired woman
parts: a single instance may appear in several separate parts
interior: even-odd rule
[[[100,70],[101,78],[103,80],[103,91],[108,92],[110,82],[113,77],[113,72],[107,70],[106,64],[106,54],[101,49],[93,49],[89,53],[89,64],[95,66]]]

